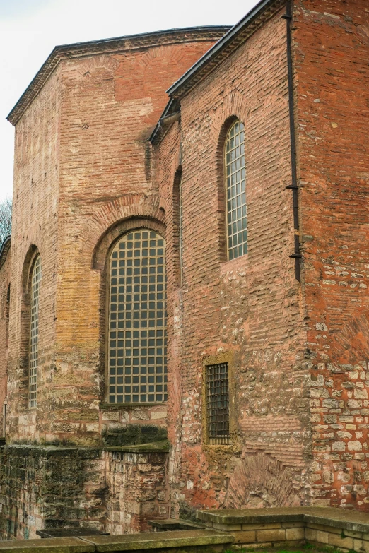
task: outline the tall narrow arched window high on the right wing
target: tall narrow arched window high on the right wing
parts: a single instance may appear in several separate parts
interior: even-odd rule
[[[244,125],[235,121],[225,137],[228,259],[247,254]]]

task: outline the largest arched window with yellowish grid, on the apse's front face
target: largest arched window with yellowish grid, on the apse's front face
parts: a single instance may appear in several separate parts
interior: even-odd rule
[[[110,254],[109,403],[167,400],[165,240],[138,229]]]

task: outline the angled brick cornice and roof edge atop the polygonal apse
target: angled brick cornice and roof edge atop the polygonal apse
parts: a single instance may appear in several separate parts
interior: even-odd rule
[[[62,44],[56,46],[49,57],[42,64],[35,77],[30,82],[16,105],[11,109],[6,119],[16,126],[19,119],[28,106],[33,102],[37,94],[45,85],[47,79],[62,59],[90,56],[102,52],[119,52],[124,50],[141,49],[145,47],[159,46],[161,44],[173,44],[176,42],[194,42],[193,35],[199,35],[196,42],[205,40],[218,40],[230,29],[230,25],[208,25],[198,27],[185,27],[180,29],[167,29],[153,32],[143,32],[138,35],[107,38],[102,40],[90,40],[88,42],[76,42],[74,44]],[[178,35],[191,35],[178,40]],[[204,36],[201,36],[204,35]],[[176,40],[177,38],[177,40]]]

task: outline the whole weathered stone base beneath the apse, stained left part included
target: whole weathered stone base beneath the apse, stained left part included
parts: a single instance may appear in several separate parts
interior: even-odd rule
[[[0,540],[42,528],[146,530],[148,518],[168,517],[165,447],[1,447]]]

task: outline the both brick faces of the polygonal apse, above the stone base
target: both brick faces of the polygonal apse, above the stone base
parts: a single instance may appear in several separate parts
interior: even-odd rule
[[[163,232],[147,138],[167,102],[166,88],[211,47],[217,32],[153,35],[128,41],[122,52],[104,54],[99,46],[95,54],[60,61],[16,125],[11,440],[94,445],[109,426],[165,426],[162,405],[99,411],[105,388],[104,263],[107,242],[115,237],[107,231],[118,223],[119,230],[146,225],[149,218]],[[29,270],[27,252],[35,246],[42,258],[40,369],[37,412],[30,412],[29,297],[22,280]],[[98,263],[94,255],[100,255]]]

